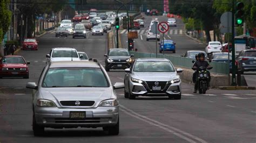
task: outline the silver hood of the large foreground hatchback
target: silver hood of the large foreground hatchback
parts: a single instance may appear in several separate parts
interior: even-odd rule
[[[51,101],[95,101],[98,105],[112,97],[112,88],[44,88],[41,90],[44,99]]]

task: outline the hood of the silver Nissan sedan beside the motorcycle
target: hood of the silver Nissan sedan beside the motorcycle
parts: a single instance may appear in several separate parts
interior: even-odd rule
[[[131,77],[143,81],[171,81],[179,75],[176,72],[133,72]]]

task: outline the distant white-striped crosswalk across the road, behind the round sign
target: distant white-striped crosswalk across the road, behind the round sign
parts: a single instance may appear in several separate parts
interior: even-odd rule
[[[149,30],[142,29],[142,30],[130,30],[130,31],[137,31],[138,34],[143,35],[143,34],[147,34],[147,32]],[[121,30],[120,31],[120,34],[127,34],[127,33],[128,33],[127,30]],[[183,34],[183,30],[181,30],[181,29],[171,29],[168,32],[166,32],[165,34],[168,34],[168,35],[181,35],[181,34]]]

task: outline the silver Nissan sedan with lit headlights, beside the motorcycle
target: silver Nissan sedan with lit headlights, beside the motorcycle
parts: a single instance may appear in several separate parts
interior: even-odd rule
[[[168,59],[139,58],[131,68],[125,69],[124,97],[135,99],[136,96],[169,96],[181,98],[181,79]]]

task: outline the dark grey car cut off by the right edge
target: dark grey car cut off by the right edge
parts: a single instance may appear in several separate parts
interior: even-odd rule
[[[256,71],[256,50],[243,49],[235,62],[241,74],[244,74],[244,71]]]

